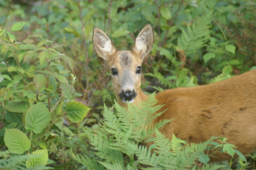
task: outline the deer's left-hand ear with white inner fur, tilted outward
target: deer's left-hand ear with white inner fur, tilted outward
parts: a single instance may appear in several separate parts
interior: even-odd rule
[[[93,28],[92,42],[97,54],[105,60],[116,51],[109,37],[99,27]]]

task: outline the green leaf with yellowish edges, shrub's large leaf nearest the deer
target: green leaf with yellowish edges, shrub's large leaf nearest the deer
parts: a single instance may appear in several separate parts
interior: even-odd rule
[[[68,118],[75,123],[83,121],[89,110],[89,107],[77,101],[68,102],[66,104]]]

